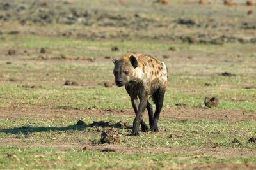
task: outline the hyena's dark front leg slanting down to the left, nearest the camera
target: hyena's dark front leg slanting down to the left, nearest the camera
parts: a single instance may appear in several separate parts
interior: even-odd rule
[[[132,127],[132,133],[131,136],[138,136],[139,135],[139,125],[141,122],[141,118],[143,116],[143,113],[146,109],[147,106],[147,101],[148,101],[148,92],[143,92],[143,94],[141,94],[141,96],[139,96],[140,98],[140,104],[138,106],[138,112],[136,114],[136,117],[133,121],[133,127]]]

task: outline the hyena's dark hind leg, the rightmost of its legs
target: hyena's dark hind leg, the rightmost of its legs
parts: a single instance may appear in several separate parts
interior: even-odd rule
[[[157,123],[158,123],[158,120],[159,120],[160,112],[161,112],[162,107],[163,107],[164,93],[165,93],[165,89],[160,89],[159,88],[152,95],[153,100],[156,103],[156,111],[154,113],[154,122],[153,122],[152,127],[150,127],[150,130],[153,131],[153,132],[159,131]]]

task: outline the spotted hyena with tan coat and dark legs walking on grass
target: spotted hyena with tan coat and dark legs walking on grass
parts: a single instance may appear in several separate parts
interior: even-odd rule
[[[150,55],[134,52],[128,52],[120,60],[112,60],[115,64],[113,71],[115,83],[118,87],[125,85],[136,114],[131,135],[139,135],[138,128],[140,124],[143,132],[149,130],[157,132],[157,122],[163,106],[168,81],[168,70],[165,64]],[[148,102],[148,96],[156,104],[154,115],[152,105]],[[138,99],[140,99],[140,103]],[[142,119],[145,108],[148,110],[150,129]]]

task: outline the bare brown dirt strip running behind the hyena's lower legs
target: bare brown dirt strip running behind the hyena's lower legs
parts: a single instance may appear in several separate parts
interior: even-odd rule
[[[83,108],[71,108],[60,107],[51,108],[47,106],[12,106],[12,107],[0,107],[0,118],[12,118],[19,117],[24,118],[54,118],[60,115],[65,115],[67,118],[77,118],[83,116],[102,117],[109,113],[109,109],[90,110]],[[36,114],[35,114],[36,113]],[[134,110],[132,108],[125,110],[111,109],[113,117],[127,117],[134,118]],[[143,117],[147,118],[145,113]],[[246,113],[244,110],[211,110],[208,108],[165,108],[161,111],[160,118],[173,118],[177,120],[256,120],[256,113]],[[99,122],[98,122],[99,123]],[[98,124],[97,122],[95,124]],[[99,123],[100,124],[100,123]],[[109,124],[109,122],[108,122]],[[112,123],[111,123],[112,124]],[[118,123],[117,123],[118,124]],[[115,125],[115,124],[114,124]],[[117,126],[117,125],[116,125]]]

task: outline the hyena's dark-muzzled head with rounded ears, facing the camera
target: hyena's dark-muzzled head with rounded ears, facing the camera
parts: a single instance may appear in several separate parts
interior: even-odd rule
[[[113,73],[116,85],[121,87],[131,79],[133,70],[138,66],[138,61],[133,55],[129,57],[129,60],[112,59],[112,61],[115,64]]]

